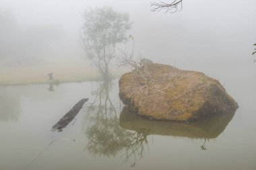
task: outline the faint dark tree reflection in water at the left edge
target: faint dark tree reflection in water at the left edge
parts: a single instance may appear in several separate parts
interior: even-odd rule
[[[17,121],[20,116],[20,99],[0,94],[0,121]]]

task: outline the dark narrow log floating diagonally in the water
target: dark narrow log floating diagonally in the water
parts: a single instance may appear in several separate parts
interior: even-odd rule
[[[78,101],[78,103],[76,103],[73,108],[69,112],[67,112],[67,114],[65,114],[65,116],[63,116],[63,118],[61,118],[59,122],[57,122],[57,124],[53,126],[52,131],[58,130],[59,132],[61,132],[63,128],[65,128],[73,120],[73,118],[75,118],[75,116],[82,109],[82,106],[84,105],[84,103],[86,103],[86,101],[88,101],[88,98]]]

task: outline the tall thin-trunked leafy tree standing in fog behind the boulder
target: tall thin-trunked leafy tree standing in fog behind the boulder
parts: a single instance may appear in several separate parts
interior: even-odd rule
[[[84,12],[81,36],[86,57],[94,62],[104,78],[108,77],[108,65],[115,58],[117,46],[127,41],[125,33],[130,28],[129,14],[111,7]]]

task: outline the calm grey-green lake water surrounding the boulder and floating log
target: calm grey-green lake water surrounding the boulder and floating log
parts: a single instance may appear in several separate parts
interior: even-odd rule
[[[199,71],[216,67],[204,62]],[[123,110],[118,79],[0,87],[0,169],[256,169],[256,66],[229,63],[210,74],[222,73],[238,110],[195,124],[155,122]],[[85,97],[75,119],[51,132]]]

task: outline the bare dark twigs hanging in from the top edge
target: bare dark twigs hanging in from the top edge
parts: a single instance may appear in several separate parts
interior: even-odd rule
[[[174,13],[178,11],[179,8],[180,10],[183,8],[182,1],[183,0],[174,0],[171,3],[165,3],[162,1],[159,3],[153,2],[151,3],[151,6],[153,7],[152,11],[164,10],[165,12],[170,11],[171,13]]]

